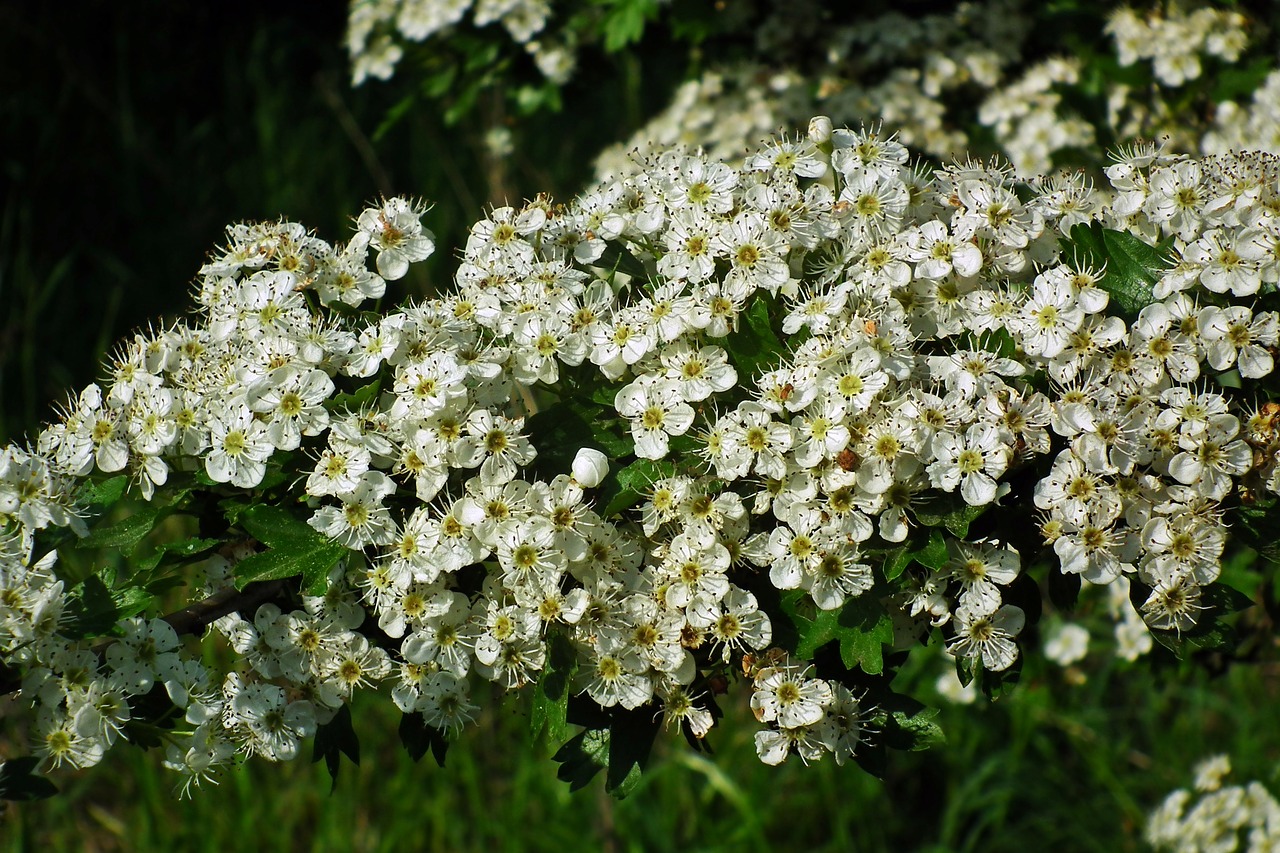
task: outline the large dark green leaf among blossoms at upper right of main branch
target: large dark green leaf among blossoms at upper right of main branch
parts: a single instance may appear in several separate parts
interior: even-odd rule
[[[1152,246],[1096,222],[1073,225],[1064,250],[1068,257],[1106,269],[1098,287],[1111,295],[1111,307],[1125,318],[1137,316],[1155,301],[1156,283],[1170,268],[1169,245]]]

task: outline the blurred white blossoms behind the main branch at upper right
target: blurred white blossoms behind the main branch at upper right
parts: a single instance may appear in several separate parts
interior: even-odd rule
[[[1153,86],[1107,81],[1106,120],[1097,126],[1064,97],[1080,90],[1080,58],[1064,45],[1061,55],[1032,61],[1025,45],[1036,9],[1016,0],[961,3],[945,13],[908,18],[888,12],[831,28],[823,35],[823,50],[805,51],[826,56],[813,74],[767,59],[712,68],[677,90],[671,105],[627,141],[605,149],[596,175],[630,173],[635,165],[627,152],[676,142],[703,145],[718,158],[735,155],[773,128],[814,113],[846,124],[882,122],[913,150],[960,156],[972,140],[966,119],[954,109],[957,102],[977,106],[973,120],[989,129],[1023,177],[1051,170],[1055,158],[1093,149],[1100,132],[1115,138],[1167,137],[1178,151],[1280,152],[1280,74],[1268,77],[1249,105],[1219,104],[1211,122],[1176,106],[1181,88],[1202,77],[1204,60],[1234,63],[1242,56],[1248,20],[1212,6],[1165,5],[1142,15],[1125,6],[1097,22],[1097,37],[1111,37],[1121,65],[1149,63],[1155,77]],[[812,38],[788,23],[785,12],[762,31],[772,33],[769,44],[786,44],[792,31],[797,40]],[[1036,55],[1043,55],[1038,50]],[[762,44],[758,55],[774,53]]]

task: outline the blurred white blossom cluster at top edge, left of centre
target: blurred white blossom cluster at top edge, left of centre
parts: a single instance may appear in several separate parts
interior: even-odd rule
[[[351,79],[390,79],[404,58],[406,42],[445,37],[471,13],[471,23],[502,24],[548,79],[566,82],[576,55],[562,40],[535,38],[552,15],[550,0],[352,0],[347,18],[347,54]]]

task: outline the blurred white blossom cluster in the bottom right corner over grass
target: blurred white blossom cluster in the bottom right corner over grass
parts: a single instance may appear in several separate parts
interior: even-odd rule
[[[1280,847],[1280,802],[1262,783],[1224,785],[1230,772],[1226,756],[1202,761],[1194,790],[1172,792],[1147,818],[1147,843],[1169,853]]]

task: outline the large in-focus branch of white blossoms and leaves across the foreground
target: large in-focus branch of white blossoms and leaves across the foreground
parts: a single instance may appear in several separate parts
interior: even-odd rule
[[[1224,555],[1275,556],[1277,161],[1135,146],[1107,178],[916,168],[818,118],[494,209],[387,313],[426,205],[343,245],[230,227],[191,320],[0,451],[35,726],[5,795],[122,739],[184,789],[310,738],[335,772],[360,689],[443,758],[476,681],[529,695],[573,786],[626,793],[733,693],[763,761],[874,772],[941,735],[892,690],[913,653],[996,695],[1082,581],[1230,651]]]

